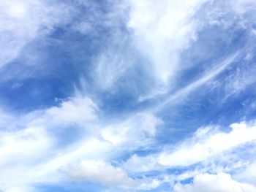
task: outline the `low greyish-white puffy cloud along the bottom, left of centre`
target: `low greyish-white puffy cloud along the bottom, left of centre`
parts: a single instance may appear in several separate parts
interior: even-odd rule
[[[65,172],[73,180],[86,180],[132,191],[150,190],[162,184],[161,180],[146,177],[132,179],[123,169],[98,160],[83,160],[77,166],[69,167]]]

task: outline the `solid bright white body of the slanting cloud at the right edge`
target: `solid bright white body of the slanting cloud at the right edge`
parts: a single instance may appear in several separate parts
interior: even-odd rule
[[[219,155],[227,150],[255,142],[256,126],[246,123],[234,123],[228,133],[217,131],[203,134],[201,137],[194,136],[178,145],[172,152],[162,152],[158,162],[164,166],[189,166],[206,161],[208,158]]]

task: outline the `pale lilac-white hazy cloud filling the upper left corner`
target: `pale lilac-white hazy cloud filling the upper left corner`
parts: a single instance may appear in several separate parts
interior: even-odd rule
[[[39,34],[65,23],[71,9],[46,1],[0,2],[0,67],[18,57],[20,50]]]

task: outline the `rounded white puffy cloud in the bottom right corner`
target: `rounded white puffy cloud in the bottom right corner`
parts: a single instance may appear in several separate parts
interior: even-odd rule
[[[192,184],[174,185],[175,192],[253,192],[256,191],[255,186],[247,183],[239,183],[230,177],[230,174],[198,174],[194,177]]]

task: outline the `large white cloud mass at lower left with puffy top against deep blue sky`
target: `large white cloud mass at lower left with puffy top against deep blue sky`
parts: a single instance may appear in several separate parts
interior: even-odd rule
[[[84,155],[89,157],[89,153],[97,157],[91,149],[96,149],[97,153],[103,148],[106,151],[108,143],[91,135],[84,141],[78,140],[64,147],[57,145],[61,138],[54,134],[53,128],[74,123],[85,126],[86,122],[97,120],[96,111],[97,105],[91,99],[75,96],[62,101],[59,107],[31,112],[23,115],[23,118],[8,118],[4,124],[12,126],[4,128],[0,137],[1,188],[8,192],[21,191],[23,188],[32,188],[36,183],[54,183],[62,179],[59,173],[61,166],[78,161]],[[84,138],[84,135],[80,137]],[[85,147],[89,149],[87,152]]]

